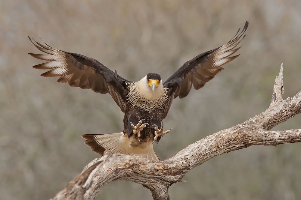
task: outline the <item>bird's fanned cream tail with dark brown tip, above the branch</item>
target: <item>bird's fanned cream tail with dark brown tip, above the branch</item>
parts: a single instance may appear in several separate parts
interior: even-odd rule
[[[85,134],[82,135],[82,138],[85,139],[85,144],[91,147],[91,150],[95,153],[98,153],[100,156],[104,155],[104,151],[111,150],[112,153],[136,155],[138,157],[146,158],[149,160],[160,161],[154,149],[148,153],[143,154],[132,154],[125,152],[125,149],[120,147],[119,138],[123,136],[121,133],[108,133],[108,134]]]

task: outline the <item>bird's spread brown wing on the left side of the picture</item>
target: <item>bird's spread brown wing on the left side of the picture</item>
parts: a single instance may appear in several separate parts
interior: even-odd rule
[[[101,94],[109,93],[121,111],[125,112],[126,83],[129,81],[117,75],[116,71],[114,73],[93,58],[54,49],[46,43],[47,46],[36,41],[36,43],[34,43],[30,37],[29,40],[36,48],[46,53],[46,55],[29,53],[29,55],[34,58],[48,61],[33,66],[33,68],[36,69],[49,70],[42,73],[41,76],[59,76],[57,82],[69,83],[70,86],[80,87],[82,89],[92,89]]]

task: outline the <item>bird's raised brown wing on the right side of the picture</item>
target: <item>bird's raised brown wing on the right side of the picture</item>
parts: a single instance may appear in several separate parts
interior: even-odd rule
[[[163,118],[166,117],[174,98],[186,97],[191,90],[192,85],[196,90],[202,88],[206,82],[213,79],[216,74],[224,69],[221,67],[222,65],[234,60],[239,56],[231,55],[240,49],[240,47],[236,49],[235,47],[246,36],[244,35],[244,32],[247,30],[248,25],[249,22],[246,22],[242,31],[239,33],[240,29],[238,29],[232,40],[223,46],[204,52],[190,61],[187,61],[163,83],[169,88],[169,102],[165,107]]]

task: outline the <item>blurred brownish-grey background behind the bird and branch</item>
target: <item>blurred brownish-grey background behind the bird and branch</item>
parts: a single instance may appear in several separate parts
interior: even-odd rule
[[[249,21],[234,61],[199,91],[175,99],[173,128],[154,145],[161,160],[268,108],[284,63],[284,99],[301,90],[298,0],[0,1],[0,199],[52,198],[99,157],[82,134],[123,130],[109,94],[72,88],[32,68],[43,61],[28,35],[95,58],[125,79],[171,76],[185,61],[227,43]],[[301,116],[273,130],[300,129]],[[301,199],[301,144],[252,146],[209,160],[170,187],[171,199]],[[116,181],[97,199],[152,199]]]

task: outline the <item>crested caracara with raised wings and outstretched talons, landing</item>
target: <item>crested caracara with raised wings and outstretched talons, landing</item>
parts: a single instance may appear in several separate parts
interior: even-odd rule
[[[111,150],[112,153],[160,161],[154,152],[153,143],[159,142],[171,130],[163,130],[162,120],[172,101],[176,97],[186,97],[192,86],[196,90],[202,88],[224,69],[222,65],[240,55],[232,56],[240,49],[241,46],[237,45],[246,36],[244,33],[248,24],[246,21],[244,28],[241,31],[238,29],[228,43],[185,62],[164,82],[157,73],[148,73],[138,82],[128,81],[119,76],[116,70],[113,72],[93,58],[55,49],[43,41],[44,44],[31,40],[30,37],[33,45],[46,54],[29,55],[47,61],[33,66],[35,69],[48,70],[41,76],[59,76],[57,82],[101,94],[109,93],[124,112],[122,132],[82,135],[85,144],[92,151],[100,156],[103,156],[105,150]]]

